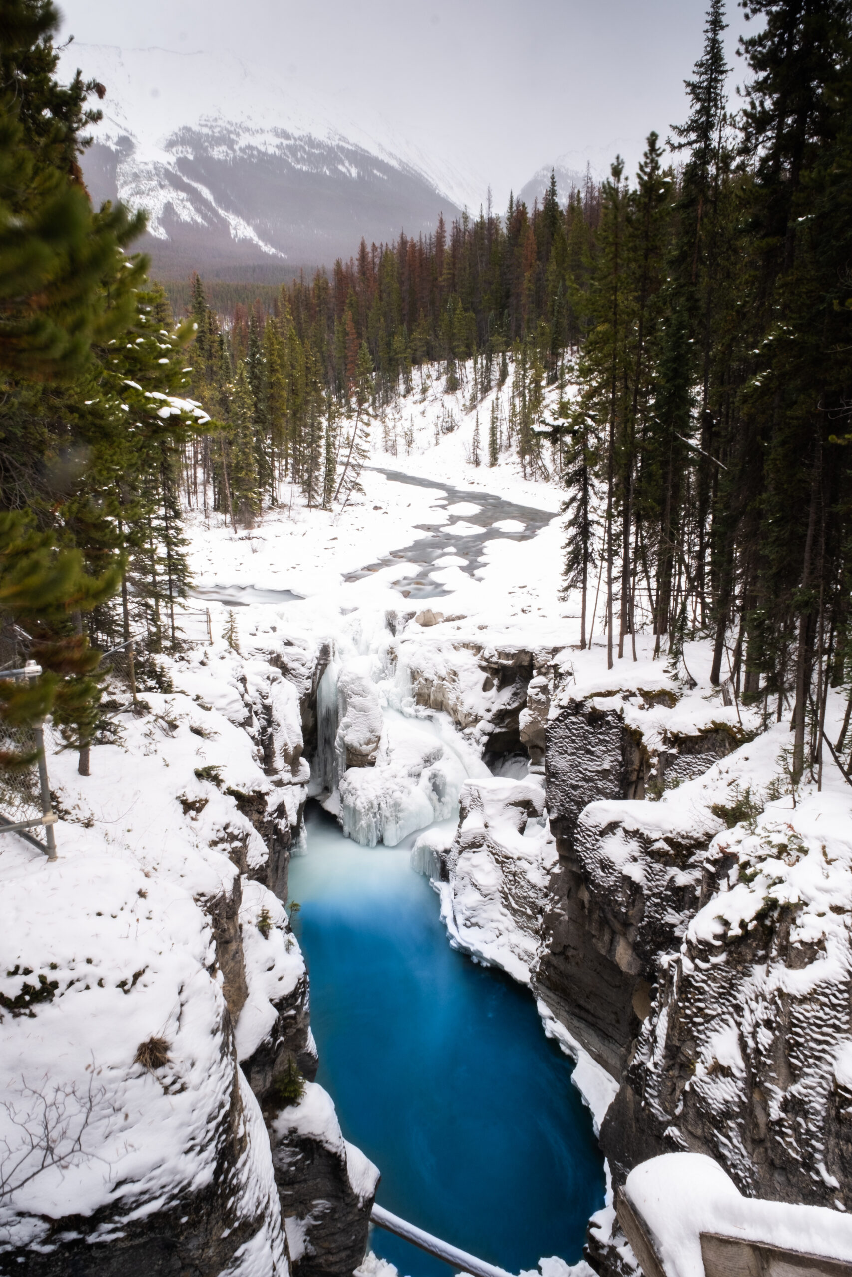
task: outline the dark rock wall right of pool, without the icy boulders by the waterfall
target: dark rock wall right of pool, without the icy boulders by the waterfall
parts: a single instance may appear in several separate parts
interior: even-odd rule
[[[566,701],[548,723],[559,862],[534,987],[621,1082],[600,1131],[616,1185],[690,1149],[746,1194],[848,1209],[848,830],[807,802],[743,806],[736,724],[678,732],[673,702],[639,695],[648,734],[627,695]],[[612,1211],[588,1253],[607,1277],[634,1271]]]

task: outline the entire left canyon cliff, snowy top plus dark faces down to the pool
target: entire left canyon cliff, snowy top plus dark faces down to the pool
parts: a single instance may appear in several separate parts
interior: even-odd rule
[[[61,859],[4,843],[0,1051],[20,1080],[0,1103],[0,1273],[361,1260],[378,1172],[312,1082],[282,903],[323,659],[286,642],[164,659],[171,691],[146,692],[92,778],[51,759]]]

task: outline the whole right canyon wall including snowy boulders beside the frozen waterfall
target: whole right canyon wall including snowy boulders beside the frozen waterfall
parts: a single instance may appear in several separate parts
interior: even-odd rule
[[[470,642],[410,667],[498,773],[416,863],[451,942],[529,983],[612,1079],[593,1110],[614,1185],[694,1151],[745,1194],[852,1208],[848,805],[784,796],[786,724],[657,667],[582,686],[565,654]],[[521,751],[526,779],[501,778]],[[634,1269],[613,1208],[588,1254]]]

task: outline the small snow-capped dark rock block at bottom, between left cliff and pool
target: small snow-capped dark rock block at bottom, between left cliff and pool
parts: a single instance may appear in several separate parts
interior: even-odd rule
[[[331,1098],[316,1083],[278,1114],[271,1139],[294,1272],[350,1277],[367,1250],[378,1170],[344,1139]]]

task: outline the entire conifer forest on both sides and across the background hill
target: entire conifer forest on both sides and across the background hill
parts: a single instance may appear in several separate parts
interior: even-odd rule
[[[595,591],[611,664],[639,628],[660,660],[709,637],[713,683],[792,718],[793,774],[824,750],[852,774],[852,5],[743,8],[743,96],[711,0],[682,120],[648,121],[635,174],[616,156],[565,203],[552,180],[531,208],[361,240],[225,313],[195,276],[174,314],[144,215],[82,181],[102,86],[59,82],[51,0],[6,0],[0,593],[43,674],[0,683],[5,718],[52,707],[87,766],[101,653],[180,645],[185,511],[236,530],[294,490],[344,506],[367,432],[439,378],[471,405],[511,389],[474,464],[559,478],[581,646]]]

